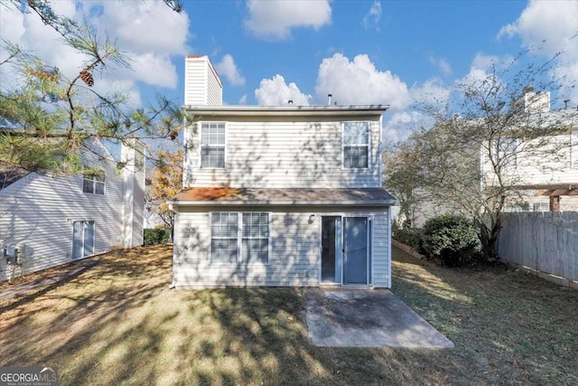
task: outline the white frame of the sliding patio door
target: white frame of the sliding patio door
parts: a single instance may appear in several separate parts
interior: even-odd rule
[[[341,287],[371,287],[373,286],[373,270],[374,270],[374,263],[373,263],[373,250],[374,250],[374,227],[373,227],[373,223],[374,223],[374,215],[375,213],[368,213],[368,212],[322,212],[322,213],[316,213],[318,215],[318,217],[320,218],[319,221],[319,243],[318,243],[318,261],[317,261],[317,266],[318,266],[318,283],[319,286],[341,286]],[[323,283],[322,282],[322,226],[323,226],[323,221],[322,221],[322,217],[340,217],[341,218],[341,230],[340,230],[340,237],[341,237],[341,253],[340,253],[340,259],[341,259],[341,277],[339,281],[335,281],[333,283]],[[343,250],[345,249],[345,221],[344,219],[347,217],[366,217],[368,219],[368,268],[367,268],[367,272],[368,272],[368,279],[367,279],[367,283],[365,285],[363,284],[346,284],[343,282],[343,278],[344,278],[344,271],[345,271],[345,253],[343,252]],[[337,257],[336,257],[337,258]]]

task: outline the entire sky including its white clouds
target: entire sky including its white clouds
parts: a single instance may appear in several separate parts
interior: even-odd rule
[[[491,62],[521,50],[541,60],[564,50],[557,71],[578,80],[578,0],[183,3],[182,14],[154,0],[52,5],[86,18],[133,59],[132,70],[109,69],[95,88],[123,90],[135,105],[155,92],[181,102],[184,56],[207,54],[227,104],[324,104],[328,92],[344,105],[389,104],[386,133],[395,141],[419,118],[413,102],[443,99],[454,82],[483,78]],[[82,58],[35,15],[0,5],[0,33],[78,73]],[[568,98],[578,104],[578,90]]]

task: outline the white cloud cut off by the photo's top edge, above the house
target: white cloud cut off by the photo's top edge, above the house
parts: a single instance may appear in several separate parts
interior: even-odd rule
[[[265,39],[283,40],[291,35],[292,28],[318,30],[331,23],[329,0],[248,0],[247,11],[245,27]]]

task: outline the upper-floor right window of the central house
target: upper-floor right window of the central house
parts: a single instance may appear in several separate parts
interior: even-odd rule
[[[348,169],[369,167],[369,123],[343,124],[343,166]]]

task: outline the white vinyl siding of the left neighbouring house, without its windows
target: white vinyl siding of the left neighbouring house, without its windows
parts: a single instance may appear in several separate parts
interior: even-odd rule
[[[102,159],[105,152],[91,148],[83,155],[85,165],[98,165],[107,174],[106,195],[81,192],[83,176],[55,179],[48,174],[27,174],[0,190],[0,249],[18,243],[31,252],[25,259],[24,274],[72,261],[73,227],[77,221],[94,221],[94,253],[121,245],[126,231],[123,224],[123,197],[127,182],[116,174],[117,162]],[[132,229],[133,242],[142,245],[144,211],[144,171],[137,173],[133,205],[134,218],[140,219]],[[138,187],[138,188],[137,188]],[[10,278],[11,268],[0,259],[0,281]],[[16,270],[19,274],[20,271]]]

